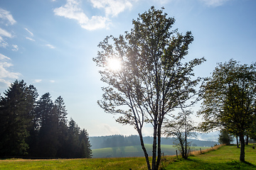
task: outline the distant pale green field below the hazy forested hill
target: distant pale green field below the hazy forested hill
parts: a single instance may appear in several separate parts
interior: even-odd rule
[[[145,145],[146,150],[152,150],[152,145]],[[207,149],[209,147],[193,147],[193,150]],[[176,147],[173,145],[161,145],[161,152],[165,155],[176,154]],[[132,147],[107,147],[102,149],[92,149],[93,158],[110,158],[110,157],[144,157],[144,152],[142,147],[132,146]],[[148,152],[151,156],[151,152]]]

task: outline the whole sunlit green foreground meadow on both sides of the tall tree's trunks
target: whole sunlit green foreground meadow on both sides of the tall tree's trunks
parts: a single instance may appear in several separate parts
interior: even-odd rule
[[[252,145],[245,148],[245,160],[239,162],[240,149],[235,145],[191,156],[188,160],[165,156],[161,169],[256,169],[256,151]],[[0,160],[0,169],[146,169],[144,157],[100,159],[52,159],[52,160]]]

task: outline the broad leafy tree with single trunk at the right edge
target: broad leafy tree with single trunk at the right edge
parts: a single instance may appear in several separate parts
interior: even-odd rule
[[[240,161],[245,162],[245,135],[252,127],[256,106],[256,63],[219,63],[202,85],[201,128],[225,129],[240,137]]]

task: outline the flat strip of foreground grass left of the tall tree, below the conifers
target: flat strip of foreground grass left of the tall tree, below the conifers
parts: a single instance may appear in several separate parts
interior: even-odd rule
[[[0,161],[0,169],[146,169],[144,157]]]

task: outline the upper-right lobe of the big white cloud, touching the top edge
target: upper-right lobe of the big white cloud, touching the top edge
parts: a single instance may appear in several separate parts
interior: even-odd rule
[[[104,8],[106,16],[117,16],[125,9],[132,8],[132,3],[127,0],[90,0],[94,8]]]

